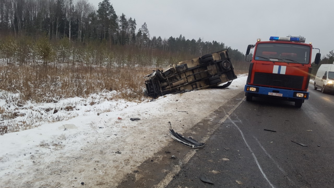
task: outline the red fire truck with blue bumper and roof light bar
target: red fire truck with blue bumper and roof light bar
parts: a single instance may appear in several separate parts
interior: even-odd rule
[[[311,55],[312,49],[315,49],[312,43],[306,44],[301,36],[271,36],[269,41],[259,38],[255,45],[248,45],[246,61],[252,48],[255,48],[254,55],[244,88],[246,100],[273,97],[294,101],[295,106],[300,108],[309,98]],[[315,64],[319,64],[320,57],[319,50]]]

